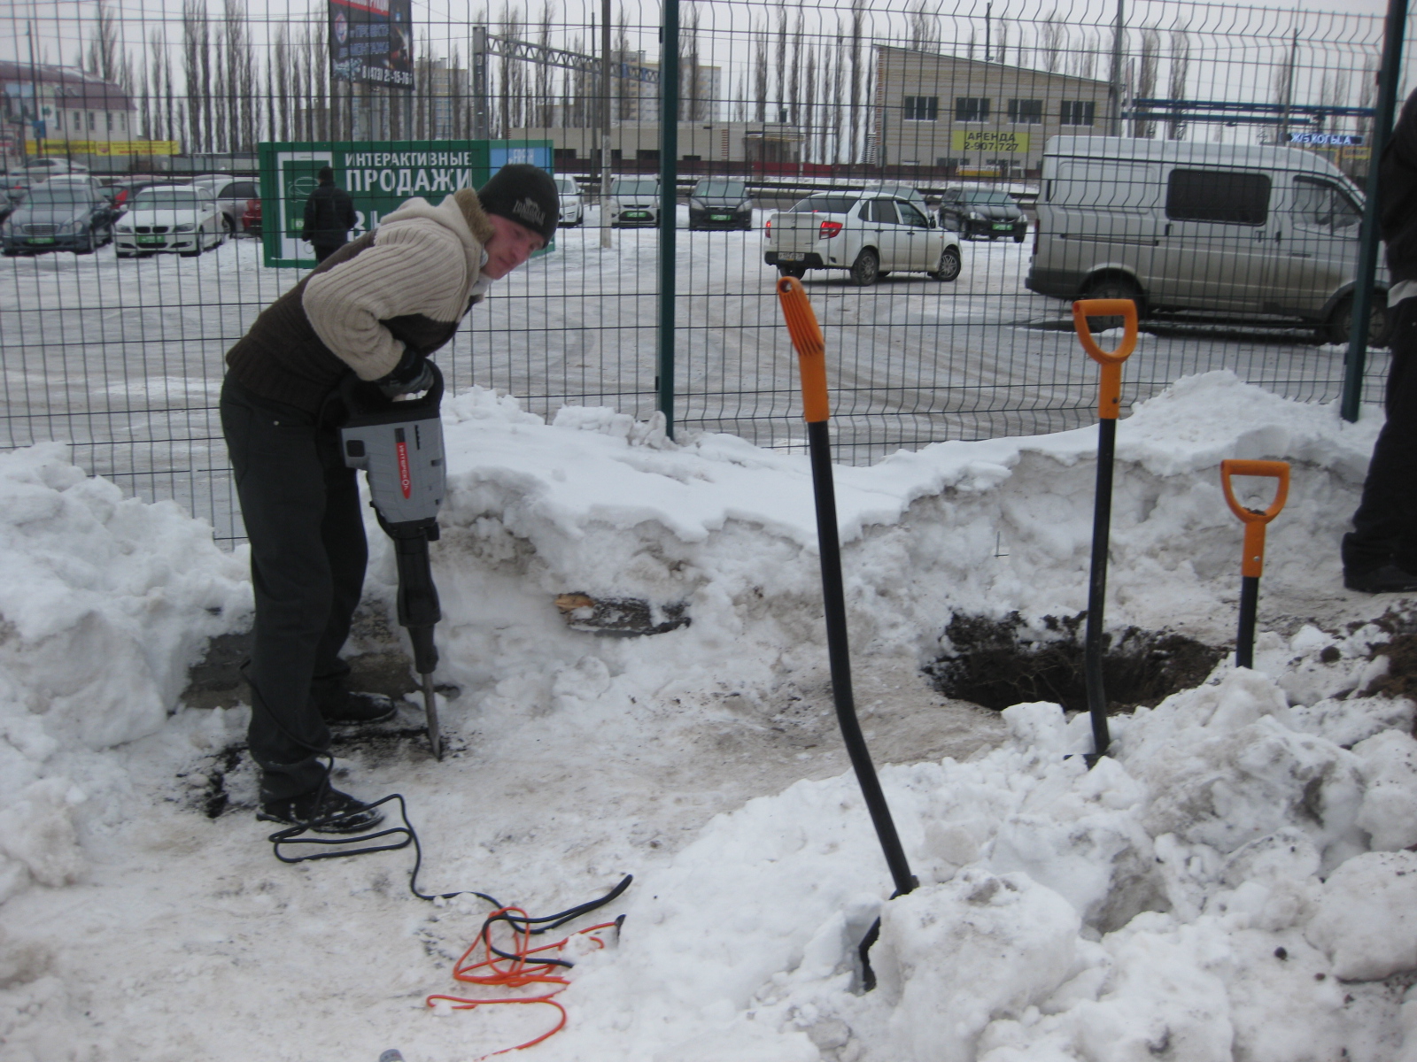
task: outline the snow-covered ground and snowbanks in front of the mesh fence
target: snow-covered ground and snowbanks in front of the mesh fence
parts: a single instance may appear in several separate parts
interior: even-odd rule
[[[1214,372],[1119,423],[1108,626],[1189,663],[1175,692],[1111,690],[1145,705],[1093,770],[1085,715],[1057,701],[1095,429],[837,469],[857,702],[921,881],[887,901],[832,715],[805,455],[676,445],[606,409],[544,423],[478,389],[444,408],[449,755],[410,701],[340,738],[337,782],[407,797],[427,891],[548,913],[636,875],[591,916],[623,929],[578,949],[567,1028],[523,1056],[1417,1059],[1417,617],[1345,592],[1338,564],[1379,413],[1345,425]],[[1223,654],[1226,457],[1294,470],[1254,671]],[[350,651],[387,660],[373,523],[370,544]],[[0,1056],[441,1062],[538,1035],[547,1007],[425,1004],[472,994],[449,971],[489,908],[414,899],[410,851],[272,858],[242,694],[184,701],[249,626],[245,565],[61,445],[0,456]],[[684,602],[691,623],[572,630],[565,592]],[[1060,692],[1002,712],[941,692],[979,678],[975,650]],[[857,994],[877,916],[880,986]]]

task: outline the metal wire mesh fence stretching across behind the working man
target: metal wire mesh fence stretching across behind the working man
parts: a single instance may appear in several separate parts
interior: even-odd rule
[[[241,537],[222,357],[303,275],[264,265],[247,235],[261,142],[550,142],[580,201],[554,252],[499,282],[438,358],[453,387],[538,413],[653,412],[659,6],[393,0],[363,72],[337,50],[364,40],[346,7],[7,10],[18,210],[0,265],[0,446],[67,440],[95,473]],[[383,10],[349,10],[368,7]],[[1214,368],[1336,398],[1382,21],[1146,1],[1118,24],[1118,10],[683,4],[680,435],[798,445],[779,270],[803,272],[828,333],[842,460],[1088,423],[1095,377],[1067,303],[1088,293],[1148,312],[1128,402]],[[412,88],[370,84],[405,72]],[[35,214],[81,198],[85,176],[128,208],[150,181],[210,176],[217,217],[149,253],[136,235],[108,242],[123,219],[102,200]],[[1376,351],[1370,391],[1384,374]]]

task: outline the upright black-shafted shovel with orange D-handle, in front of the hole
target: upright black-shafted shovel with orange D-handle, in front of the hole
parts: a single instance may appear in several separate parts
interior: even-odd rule
[[[1088,317],[1124,321],[1122,341],[1114,351],[1097,346]],[[1073,327],[1083,350],[1102,367],[1097,389],[1097,494],[1093,501],[1093,573],[1087,586],[1087,634],[1083,675],[1087,711],[1093,716],[1093,758],[1107,755],[1107,694],[1102,690],[1102,609],[1107,599],[1107,542],[1112,530],[1112,462],[1117,453],[1117,413],[1122,405],[1122,362],[1136,350],[1136,303],[1131,299],[1083,299],[1073,303]]]

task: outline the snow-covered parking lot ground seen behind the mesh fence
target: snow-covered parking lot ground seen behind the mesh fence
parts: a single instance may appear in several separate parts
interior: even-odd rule
[[[765,217],[755,212],[751,232],[676,234],[679,438],[707,430],[764,446],[801,443],[777,270],[762,262]],[[589,208],[585,227],[563,229],[553,253],[499,282],[469,314],[439,354],[449,382],[510,392],[541,415],[572,404],[649,416],[657,241],[653,229],[619,229],[602,248]],[[952,283],[893,273],[862,289],[845,272],[808,273],[828,338],[840,460],[1093,422],[1095,370],[1066,303],[1023,286],[1032,238],[962,246],[964,270]],[[4,259],[0,446],[71,442],[94,472],[146,498],[176,498],[211,520],[220,538],[239,537],[215,415],[222,355],[296,279],[264,268],[255,239],[191,259],[119,261],[112,246]],[[1220,368],[1288,396],[1329,401],[1340,389],[1343,350],[1316,346],[1299,329],[1158,321],[1127,365],[1124,398]],[[1379,351],[1369,387],[1384,372]]]

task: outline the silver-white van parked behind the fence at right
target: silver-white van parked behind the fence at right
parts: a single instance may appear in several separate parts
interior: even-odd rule
[[[1054,136],[1037,211],[1029,290],[1299,319],[1348,341],[1363,194],[1314,152]],[[1377,286],[1373,337],[1386,269]]]

